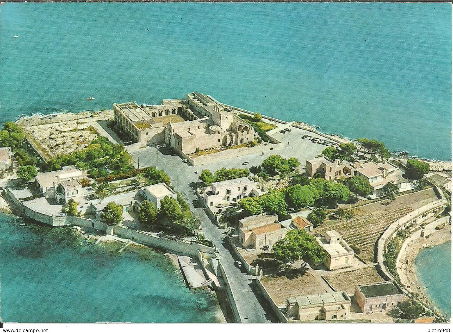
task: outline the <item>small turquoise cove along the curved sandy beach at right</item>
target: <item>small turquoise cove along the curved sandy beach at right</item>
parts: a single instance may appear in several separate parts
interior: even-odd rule
[[[439,310],[451,317],[451,241],[420,251],[415,273],[423,290]]]

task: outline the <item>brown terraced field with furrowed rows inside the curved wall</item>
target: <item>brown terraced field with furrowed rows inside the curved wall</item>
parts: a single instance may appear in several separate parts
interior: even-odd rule
[[[368,263],[374,261],[375,243],[382,232],[391,223],[400,217],[412,212],[414,209],[405,206],[391,211],[366,214],[351,220],[327,220],[314,230],[323,233],[335,229],[349,245],[355,245],[360,249],[360,257]]]

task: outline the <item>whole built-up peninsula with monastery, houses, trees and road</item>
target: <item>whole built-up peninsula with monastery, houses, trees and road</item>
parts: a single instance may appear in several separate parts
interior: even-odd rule
[[[451,162],[198,92],[24,117],[0,147],[0,208],[173,253],[230,321],[449,320],[405,258],[451,240]]]

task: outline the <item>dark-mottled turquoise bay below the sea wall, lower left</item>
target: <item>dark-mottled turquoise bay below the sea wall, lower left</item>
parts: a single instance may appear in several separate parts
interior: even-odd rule
[[[87,244],[71,228],[20,227],[0,214],[1,320],[217,322],[217,300],[185,287],[163,254]]]

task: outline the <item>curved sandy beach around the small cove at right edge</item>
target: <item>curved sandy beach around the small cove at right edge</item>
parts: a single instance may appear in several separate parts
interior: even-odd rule
[[[418,237],[411,241],[404,252],[401,253],[400,264],[397,265],[401,283],[409,292],[416,294],[425,304],[432,304],[432,302],[424,294],[415,275],[415,258],[419,251],[424,248],[440,245],[448,241],[451,241],[451,225],[444,226],[441,230],[432,233],[429,238]]]

